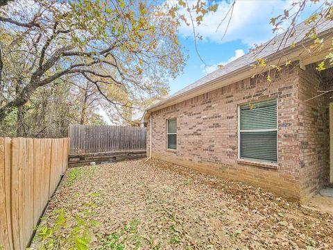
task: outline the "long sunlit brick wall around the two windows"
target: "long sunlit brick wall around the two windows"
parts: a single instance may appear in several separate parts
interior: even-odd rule
[[[310,164],[311,160],[300,160],[300,153],[305,152],[303,146],[306,140],[298,140],[302,115],[298,110],[298,72],[298,67],[291,65],[282,69],[280,76],[276,76],[271,83],[248,78],[157,110],[153,113],[153,158],[244,181],[299,199],[300,188],[305,188],[304,182],[300,181],[300,165]],[[271,98],[278,100],[278,165],[253,165],[237,160],[237,107],[249,101]],[[166,149],[166,121],[173,117],[177,118],[177,151]],[[149,126],[148,123],[147,138]],[[319,122],[318,126],[321,126]],[[305,129],[306,126],[303,126],[302,133],[306,133]],[[147,150],[149,144],[148,139]],[[313,188],[307,190],[310,192]]]

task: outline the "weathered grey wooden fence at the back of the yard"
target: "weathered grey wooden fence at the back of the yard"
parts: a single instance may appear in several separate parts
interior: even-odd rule
[[[69,126],[70,154],[146,149],[146,128],[126,126]]]

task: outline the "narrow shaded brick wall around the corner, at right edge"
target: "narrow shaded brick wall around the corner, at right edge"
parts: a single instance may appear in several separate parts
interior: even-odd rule
[[[329,103],[331,93],[318,90],[333,90],[333,70],[318,72],[316,65],[300,70],[299,117],[300,117],[300,171],[302,195],[316,192],[330,178]],[[316,97],[311,99],[312,97]],[[309,100],[311,99],[311,100]],[[332,101],[332,99],[331,99]]]

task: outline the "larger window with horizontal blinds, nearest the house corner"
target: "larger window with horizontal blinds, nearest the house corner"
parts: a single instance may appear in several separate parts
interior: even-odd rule
[[[239,157],[278,163],[276,99],[239,106]]]

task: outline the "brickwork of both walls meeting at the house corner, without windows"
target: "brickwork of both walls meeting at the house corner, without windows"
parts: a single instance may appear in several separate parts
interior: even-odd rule
[[[316,92],[311,74],[302,72],[294,63],[284,67],[271,83],[247,78],[155,111],[153,158],[261,186],[292,199],[313,193],[325,182],[322,179],[327,171],[327,145],[321,142],[327,135],[327,111],[319,100],[305,103]],[[268,98],[278,99],[276,169],[237,161],[237,106]],[[166,150],[166,119],[171,117],[177,117],[178,123],[176,152]],[[149,129],[148,123],[147,152]]]

